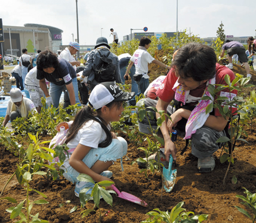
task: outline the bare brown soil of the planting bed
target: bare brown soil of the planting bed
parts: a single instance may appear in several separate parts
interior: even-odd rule
[[[154,66],[154,65],[153,65]],[[164,71],[160,68],[154,69],[150,67],[151,74],[159,70],[158,76]],[[235,73],[244,74],[244,68],[234,66]],[[162,72],[160,74],[160,72]],[[255,72],[253,73],[252,82],[256,80]],[[155,208],[161,211],[171,210],[180,201],[184,201],[183,206],[187,211],[193,211],[196,215],[208,214],[206,223],[251,223],[245,215],[240,213],[234,206],[240,206],[241,200],[235,195],[244,195],[243,187],[252,193],[256,193],[256,125],[253,125],[253,131],[250,133],[249,127],[244,127],[249,133],[246,139],[249,144],[238,142],[234,150],[234,165],[231,166],[227,175],[226,183],[223,184],[224,175],[228,163],[220,163],[221,150],[214,154],[216,159],[216,167],[211,173],[200,174],[197,172],[197,159],[192,156],[191,149],[188,149],[184,155],[180,155],[185,141],[178,137],[176,142],[178,149],[177,159],[177,179],[173,190],[170,193],[163,192],[161,196],[161,179],[159,173],[154,175],[149,173],[149,179],[143,173],[139,173],[140,168],[135,163],[131,166],[131,162],[139,157],[144,157],[144,153],[134,146],[133,141],[129,141],[126,134],[120,135],[128,141],[128,158],[124,160],[124,169],[121,171],[119,162],[115,163],[110,170],[113,171],[113,180],[116,187],[120,191],[125,191],[140,197],[148,203],[148,207],[142,207],[137,204],[122,200],[115,195],[113,196],[113,207],[109,206],[103,200],[100,201],[100,209],[104,214],[109,210],[108,216],[103,216],[101,222],[105,223],[140,223],[147,219],[147,212]],[[147,146],[143,143],[143,146]],[[9,177],[16,169],[18,157],[10,154],[5,148],[0,150],[0,191]],[[238,179],[236,184],[231,183],[232,176]],[[89,214],[87,217],[81,217],[82,209],[80,207],[79,198],[74,195],[74,185],[69,183],[63,177],[60,180],[49,181],[44,177],[34,177],[31,187],[47,195],[46,200],[49,204],[34,205],[32,207],[32,215],[39,213],[39,218],[48,220],[50,223],[98,223],[99,215],[97,213]],[[7,188],[4,190],[2,197],[13,197],[18,202],[25,199],[26,192],[21,185],[18,184],[14,177]],[[30,200],[41,199],[38,194],[30,192]],[[66,201],[70,200],[70,204]],[[64,204],[60,207],[60,204]],[[13,223],[10,219],[10,213],[5,210],[13,206],[7,200],[0,200],[0,222]],[[77,206],[75,212],[69,211]],[[93,208],[93,202],[87,203],[87,208]],[[246,208],[245,208],[246,209]],[[251,211],[247,209],[249,213]],[[18,220],[18,219],[17,219]]]

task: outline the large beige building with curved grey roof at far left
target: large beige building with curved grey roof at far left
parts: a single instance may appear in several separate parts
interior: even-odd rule
[[[57,53],[62,45],[62,32],[62,29],[40,24],[25,24],[24,27],[3,26],[3,54],[21,56],[24,48],[28,49],[29,55],[46,49]]]

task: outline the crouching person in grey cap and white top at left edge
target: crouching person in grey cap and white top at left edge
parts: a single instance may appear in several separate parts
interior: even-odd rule
[[[11,99],[7,105],[3,126],[6,126],[9,120],[12,122],[18,117],[28,117],[30,111],[36,112],[33,102],[29,98],[23,97],[21,89],[11,89],[10,97]]]

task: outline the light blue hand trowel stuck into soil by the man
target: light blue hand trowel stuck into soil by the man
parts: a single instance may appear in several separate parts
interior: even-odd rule
[[[173,189],[176,181],[176,175],[177,175],[177,169],[174,169],[174,170],[171,169],[172,161],[173,161],[173,158],[172,158],[172,155],[170,155],[168,169],[166,169],[165,167],[163,167],[162,169],[163,188],[167,193],[169,193]]]

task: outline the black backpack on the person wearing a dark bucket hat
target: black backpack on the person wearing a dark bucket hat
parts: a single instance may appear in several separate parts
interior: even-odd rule
[[[100,50],[96,51],[94,55],[94,63],[93,63],[93,70],[95,73],[95,80],[96,82],[112,82],[115,81],[115,71],[116,65],[113,63],[113,60],[108,58],[110,55],[110,51],[107,55],[101,55]],[[97,59],[97,57],[100,57]],[[99,61],[96,64],[96,61]]]

